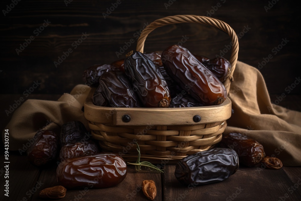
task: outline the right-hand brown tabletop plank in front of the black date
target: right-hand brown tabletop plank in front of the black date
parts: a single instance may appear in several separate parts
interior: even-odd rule
[[[166,165],[163,175],[163,199],[168,200],[278,200],[285,198],[287,188],[293,183],[283,169],[259,171],[256,167],[240,167],[228,179],[202,186],[184,186],[174,175],[175,165]],[[296,169],[301,173],[301,168]],[[301,187],[301,186],[300,186]],[[294,191],[287,200],[300,200]]]

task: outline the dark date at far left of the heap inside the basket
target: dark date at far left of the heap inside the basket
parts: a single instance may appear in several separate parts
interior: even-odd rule
[[[99,85],[98,80],[102,74],[108,71],[118,70],[111,64],[96,64],[87,68],[82,74],[82,80],[91,87],[97,87]]]

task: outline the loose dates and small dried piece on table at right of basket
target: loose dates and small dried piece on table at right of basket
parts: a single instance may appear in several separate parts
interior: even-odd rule
[[[239,164],[247,167],[260,164],[260,171],[282,167],[279,159],[265,156],[260,143],[240,133],[228,133],[219,145],[221,148],[198,152],[180,160],[175,168],[177,180],[190,186],[220,182],[234,174]]]

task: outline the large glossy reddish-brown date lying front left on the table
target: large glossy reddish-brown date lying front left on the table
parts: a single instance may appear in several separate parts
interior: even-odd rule
[[[126,177],[126,162],[115,154],[67,159],[57,167],[58,183],[65,188],[113,187]]]

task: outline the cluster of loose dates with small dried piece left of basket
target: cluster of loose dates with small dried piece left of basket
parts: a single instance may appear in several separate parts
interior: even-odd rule
[[[42,197],[63,197],[64,188],[113,187],[124,180],[127,167],[123,158],[99,153],[98,145],[90,137],[80,121],[63,124],[60,135],[51,130],[36,133],[27,151],[28,159],[41,167],[57,160],[57,181],[61,185],[59,191],[45,189]]]

